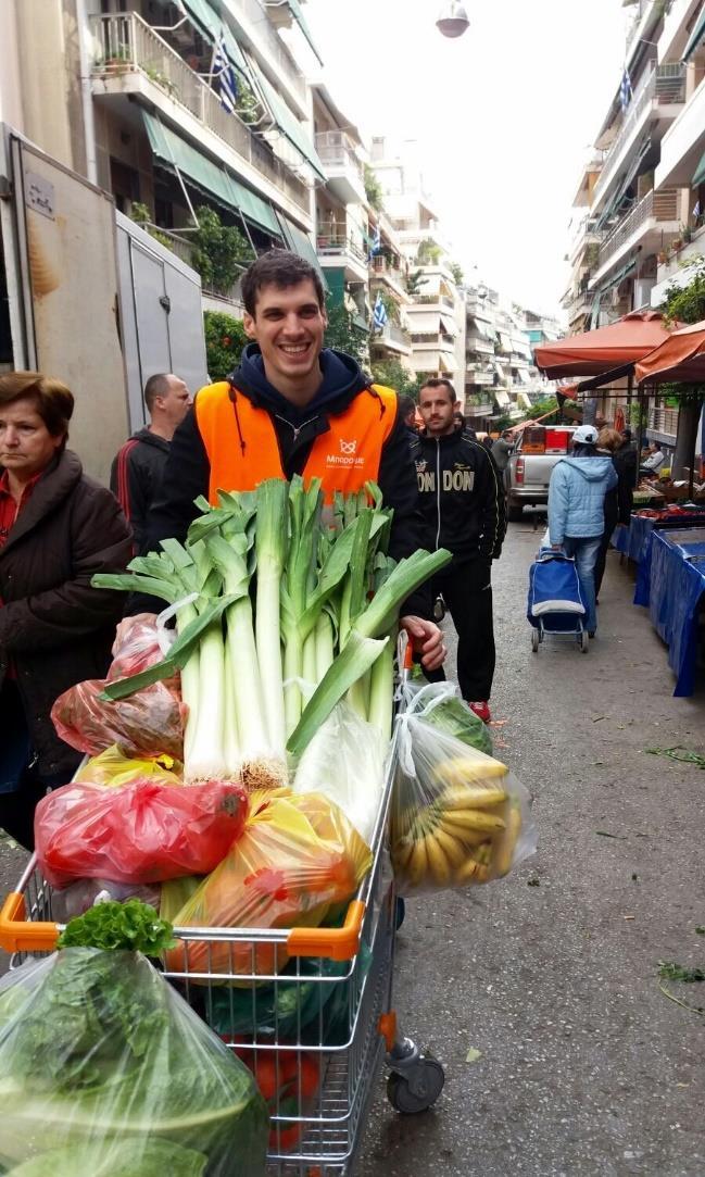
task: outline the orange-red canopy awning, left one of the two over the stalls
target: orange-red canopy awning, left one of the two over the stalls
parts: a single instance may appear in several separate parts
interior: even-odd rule
[[[632,311],[608,327],[585,331],[537,347],[536,364],[552,380],[600,375],[621,364],[640,360],[669,337],[669,328],[658,311]]]

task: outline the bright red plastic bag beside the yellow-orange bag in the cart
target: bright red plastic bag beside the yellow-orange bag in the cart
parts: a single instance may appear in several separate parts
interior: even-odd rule
[[[64,785],[36,806],[36,857],[59,887],[82,878],[161,883],[208,875],[242,833],[247,811],[242,786],[226,780],[182,789],[153,780]]]

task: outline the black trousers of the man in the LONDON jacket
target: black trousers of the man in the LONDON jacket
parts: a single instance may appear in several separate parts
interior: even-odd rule
[[[443,593],[458,632],[458,683],[467,703],[488,699],[494,678],[494,624],[492,618],[492,563],[451,564],[432,581],[434,597]],[[432,681],[443,671],[427,676]]]

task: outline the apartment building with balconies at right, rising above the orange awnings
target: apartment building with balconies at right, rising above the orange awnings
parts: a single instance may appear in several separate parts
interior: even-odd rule
[[[572,332],[658,307],[689,280],[705,218],[705,4],[632,0],[625,72],[586,159],[574,200]],[[603,398],[607,418],[626,386]],[[671,446],[677,410],[651,408],[649,435]]]

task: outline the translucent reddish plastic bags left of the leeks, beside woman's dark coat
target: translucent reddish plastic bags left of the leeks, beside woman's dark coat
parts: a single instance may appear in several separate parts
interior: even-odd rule
[[[138,613],[120,621],[113,656],[108,683],[161,661],[155,618]],[[167,752],[182,759],[187,707],[181,703],[178,677],[153,683],[115,701],[99,698],[104,686],[102,679],[87,679],[69,687],[54,703],[52,720],[66,744],[89,756],[117,744],[127,757]]]

